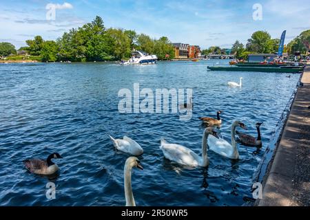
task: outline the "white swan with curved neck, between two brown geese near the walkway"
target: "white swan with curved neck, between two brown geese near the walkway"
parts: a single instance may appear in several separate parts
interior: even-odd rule
[[[222,138],[218,139],[213,135],[209,135],[209,138],[207,140],[209,149],[224,157],[228,157],[230,159],[238,159],[239,153],[235,141],[235,133],[237,126],[240,126],[242,129],[247,130],[247,126],[245,126],[245,124],[243,124],[240,121],[235,121],[231,125],[231,144]]]

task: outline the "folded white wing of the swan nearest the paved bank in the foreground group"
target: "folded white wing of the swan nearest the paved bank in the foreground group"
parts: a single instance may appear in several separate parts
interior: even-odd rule
[[[222,138],[218,139],[214,137],[214,135],[209,135],[207,142],[211,151],[223,155],[224,157],[231,157],[233,147],[226,140]]]

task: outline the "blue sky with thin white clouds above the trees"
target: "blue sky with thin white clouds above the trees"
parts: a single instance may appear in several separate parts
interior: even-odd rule
[[[70,7],[56,9],[56,20],[47,21],[48,3]],[[260,21],[252,18],[254,3],[262,5]],[[246,43],[256,30],[267,30],[272,38],[280,38],[287,30],[288,43],[310,29],[309,0],[17,0],[0,2],[0,41],[19,48],[35,35],[55,40],[96,15],[107,28],[136,30],[154,38],[167,36],[172,42],[203,48],[229,48],[237,39]]]

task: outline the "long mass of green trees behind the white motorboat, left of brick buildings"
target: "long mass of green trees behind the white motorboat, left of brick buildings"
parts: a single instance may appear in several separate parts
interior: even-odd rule
[[[106,29],[103,19],[98,16],[81,28],[65,32],[56,41],[44,41],[41,36],[35,36],[26,44],[19,50],[39,56],[41,61],[119,61],[130,58],[134,49],[156,54],[159,59],[174,58],[174,47],[167,37],[152,39],[134,30]],[[16,51],[6,52],[3,56],[8,54],[16,54]]]

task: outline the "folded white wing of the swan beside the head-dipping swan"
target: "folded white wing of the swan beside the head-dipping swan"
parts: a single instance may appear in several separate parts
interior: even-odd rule
[[[166,144],[161,145],[161,150],[163,155],[178,164],[183,164],[187,166],[199,166],[200,158],[191,149],[179,145],[179,144]]]

